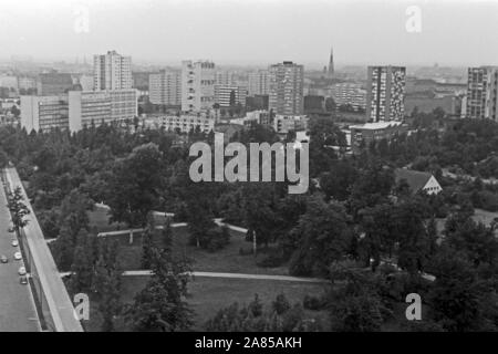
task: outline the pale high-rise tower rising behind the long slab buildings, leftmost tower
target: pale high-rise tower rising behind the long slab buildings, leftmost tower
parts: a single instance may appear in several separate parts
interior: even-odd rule
[[[127,90],[133,87],[132,58],[116,51],[93,58],[94,90]]]

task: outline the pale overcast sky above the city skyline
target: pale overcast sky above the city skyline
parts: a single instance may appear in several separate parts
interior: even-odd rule
[[[0,0],[3,59],[324,65],[331,45],[339,64],[498,64],[498,0]]]

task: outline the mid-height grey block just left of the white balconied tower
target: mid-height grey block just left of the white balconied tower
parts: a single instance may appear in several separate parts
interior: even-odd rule
[[[148,76],[148,95],[153,104],[181,105],[181,73],[162,70]]]

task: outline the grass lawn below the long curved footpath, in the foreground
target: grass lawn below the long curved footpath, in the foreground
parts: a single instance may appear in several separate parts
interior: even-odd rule
[[[148,277],[124,277],[122,302],[132,303],[135,293],[145,287],[147,280]],[[302,303],[305,294],[319,295],[324,291],[324,287],[290,281],[196,278],[189,283],[188,290],[189,296],[187,301],[195,311],[193,330],[200,331],[205,322],[216,315],[218,310],[234,302],[247,304],[253,300],[256,293],[264,304],[264,309],[269,309],[271,302],[280,293],[284,293],[291,304]],[[326,313],[322,311],[307,311],[307,314],[310,317],[321,319],[326,323]],[[86,331],[98,331],[100,323],[101,315],[97,310],[97,303],[92,302],[90,321],[84,323],[85,329]],[[122,317],[116,319],[116,330],[129,330]]]

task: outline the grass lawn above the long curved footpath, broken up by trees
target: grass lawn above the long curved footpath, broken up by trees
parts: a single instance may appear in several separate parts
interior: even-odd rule
[[[98,232],[124,230],[124,225],[108,225],[107,210],[104,208],[95,208],[90,212],[90,226],[96,227]],[[158,225],[164,220],[158,217]],[[286,266],[278,268],[261,268],[257,266],[257,261],[260,261],[266,257],[264,251],[261,250],[258,257],[252,254],[240,256],[239,250],[250,250],[251,242],[245,240],[245,235],[238,231],[230,230],[231,238],[230,243],[221,250],[216,252],[209,252],[204,249],[199,249],[195,246],[188,244],[188,230],[186,227],[173,228],[174,232],[174,247],[177,252],[187,254],[194,262],[194,270],[196,271],[210,271],[210,272],[232,272],[232,273],[250,273],[250,274],[276,274],[288,275],[289,271]],[[121,267],[124,270],[138,270],[141,269],[142,260],[142,238],[141,235],[134,235],[133,243],[129,243],[129,236],[116,236],[114,237],[120,241],[120,261]],[[155,242],[160,244],[160,231],[155,235]]]

